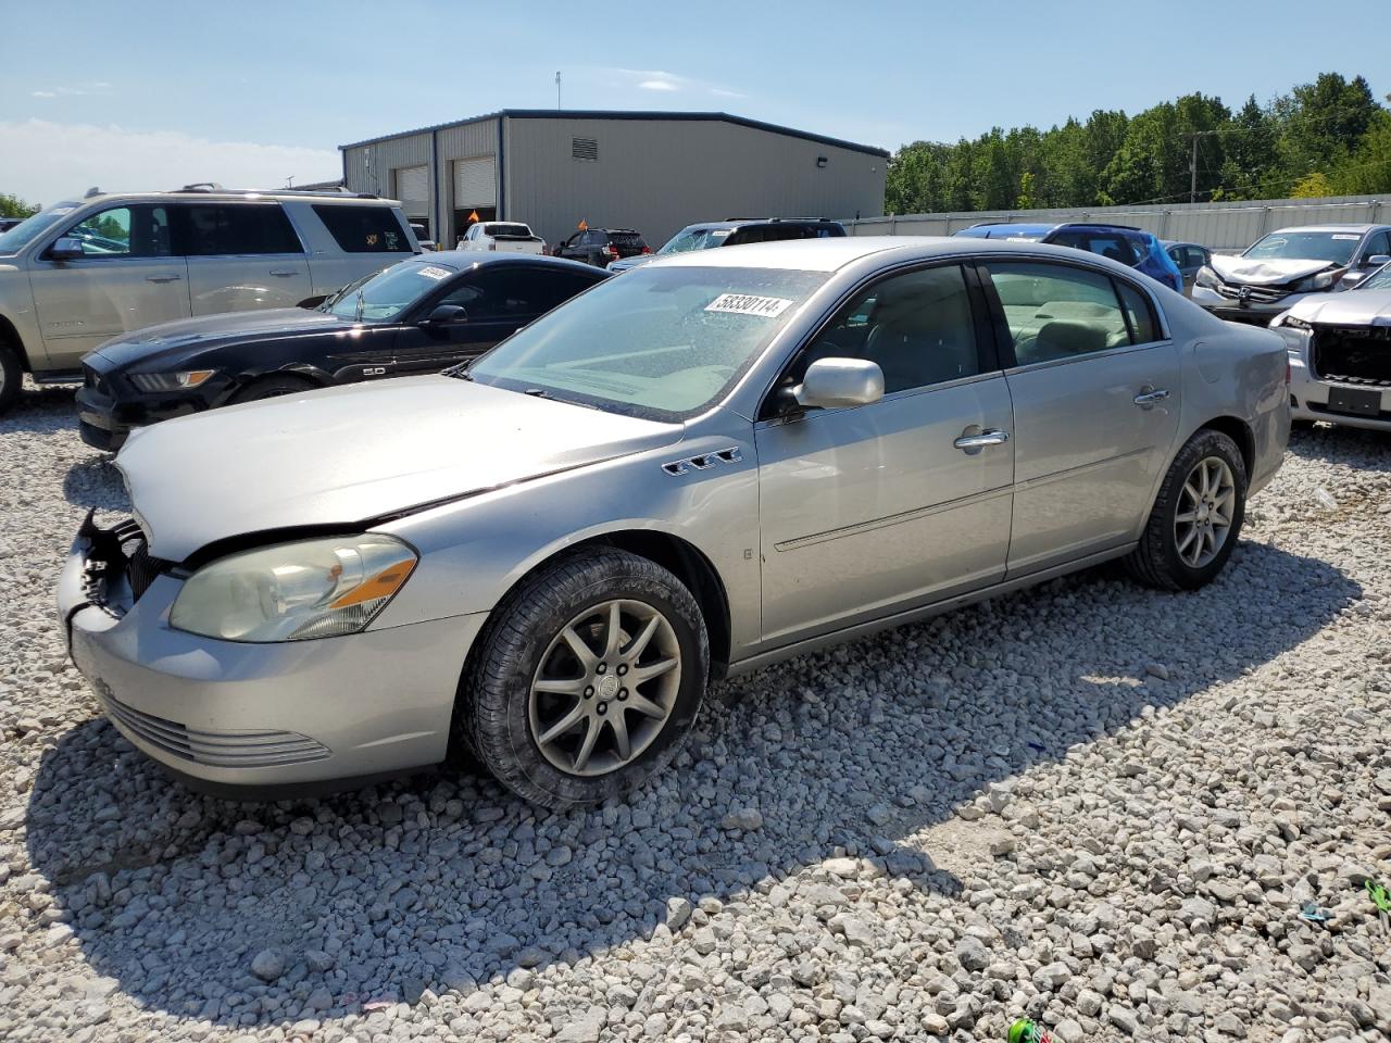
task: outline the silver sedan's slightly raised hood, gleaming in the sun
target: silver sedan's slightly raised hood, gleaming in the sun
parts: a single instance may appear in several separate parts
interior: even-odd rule
[[[353,526],[682,438],[679,424],[408,377],[216,409],[135,430],[115,466],[150,553]]]

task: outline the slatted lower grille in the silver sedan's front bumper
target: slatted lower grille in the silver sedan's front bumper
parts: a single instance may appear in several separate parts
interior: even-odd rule
[[[328,747],[296,731],[211,731],[157,718],[115,698],[96,681],[97,700],[111,720],[164,752],[209,768],[275,768],[330,757]]]

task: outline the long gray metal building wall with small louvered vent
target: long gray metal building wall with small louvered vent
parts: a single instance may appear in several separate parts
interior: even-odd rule
[[[657,249],[693,221],[883,213],[882,156],[721,121],[505,124],[506,217],[549,243],[581,220],[636,228]],[[573,159],[573,138],[594,138],[598,160]]]

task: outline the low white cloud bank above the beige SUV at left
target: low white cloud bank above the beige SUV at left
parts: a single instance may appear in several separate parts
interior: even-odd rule
[[[149,192],[196,181],[278,188],[288,177],[302,184],[342,175],[335,149],[213,142],[178,131],[0,121],[0,140],[6,143],[0,192],[45,206],[81,196],[93,185],[106,192]]]

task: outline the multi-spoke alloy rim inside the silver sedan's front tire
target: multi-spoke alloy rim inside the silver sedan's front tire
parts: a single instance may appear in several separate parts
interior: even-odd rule
[[[615,599],[566,623],[531,679],[531,737],[574,776],[615,772],[661,734],[682,684],[676,631],[658,609]]]

